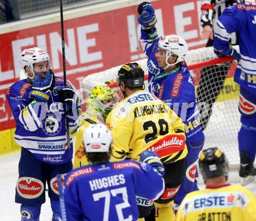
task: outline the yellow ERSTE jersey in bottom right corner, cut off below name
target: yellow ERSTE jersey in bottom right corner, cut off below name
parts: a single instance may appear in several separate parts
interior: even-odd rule
[[[243,186],[194,191],[186,195],[176,221],[255,221],[256,198]]]

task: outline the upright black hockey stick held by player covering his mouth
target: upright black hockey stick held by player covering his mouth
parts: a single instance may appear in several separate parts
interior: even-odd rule
[[[65,59],[65,41],[64,41],[64,21],[63,21],[63,8],[62,0],[59,0],[59,5],[61,8],[61,41],[62,41],[62,60],[63,60],[63,77],[64,85],[67,86],[66,78],[66,59]],[[66,121],[66,133],[67,133],[67,148],[70,148],[70,133],[69,133],[69,118],[67,118],[68,104],[65,103],[65,121]]]

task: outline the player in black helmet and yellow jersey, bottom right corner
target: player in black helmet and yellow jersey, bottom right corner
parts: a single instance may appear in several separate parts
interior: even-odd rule
[[[177,212],[176,221],[255,221],[256,198],[243,186],[230,186],[228,164],[219,148],[200,153],[199,166],[205,190],[186,195]]]

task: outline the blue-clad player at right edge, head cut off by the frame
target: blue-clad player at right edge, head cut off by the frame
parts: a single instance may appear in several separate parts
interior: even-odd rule
[[[240,172],[243,186],[253,182],[256,150],[256,5],[237,4],[226,8],[216,21],[214,50],[217,56],[239,60],[234,81],[240,84],[239,111],[241,129],[238,133]],[[239,34],[240,55],[229,44],[233,32]]]

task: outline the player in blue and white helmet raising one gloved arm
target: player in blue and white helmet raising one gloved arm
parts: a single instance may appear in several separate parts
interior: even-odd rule
[[[198,190],[196,162],[204,145],[200,115],[195,99],[195,86],[184,56],[186,41],[178,35],[158,37],[157,17],[153,6],[143,2],[138,6],[141,24],[141,45],[148,56],[148,85],[151,93],[168,104],[185,124],[187,155],[186,176],[175,199],[176,207],[190,191]]]

